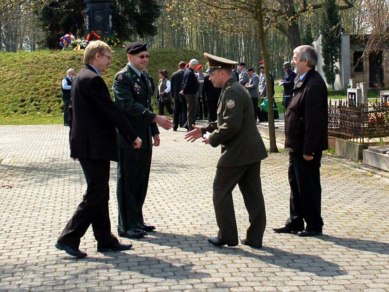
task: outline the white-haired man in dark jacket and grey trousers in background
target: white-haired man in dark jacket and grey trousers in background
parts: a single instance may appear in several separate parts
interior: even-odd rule
[[[191,131],[193,129],[192,125],[196,124],[198,80],[195,70],[197,65],[198,61],[196,59],[189,61],[189,68],[184,73],[180,91],[180,94],[185,96],[188,106],[188,131]]]

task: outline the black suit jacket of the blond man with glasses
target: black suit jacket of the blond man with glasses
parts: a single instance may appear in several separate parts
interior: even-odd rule
[[[88,64],[71,86],[70,156],[118,161],[115,127],[132,143],[137,135],[113,103],[106,83]]]

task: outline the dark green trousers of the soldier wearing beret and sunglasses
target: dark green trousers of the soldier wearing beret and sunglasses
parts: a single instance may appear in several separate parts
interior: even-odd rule
[[[152,149],[119,148],[116,188],[119,234],[144,222],[142,207],[149,184],[151,156]]]

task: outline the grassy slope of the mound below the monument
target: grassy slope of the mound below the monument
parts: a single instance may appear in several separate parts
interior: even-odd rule
[[[197,58],[201,53],[190,50],[150,50],[149,73],[158,83],[158,70],[177,71],[179,61]],[[103,73],[108,88],[115,74],[127,62],[124,49],[116,48],[112,65]],[[61,124],[61,79],[69,68],[76,73],[83,66],[83,52],[37,51],[0,54],[0,125]]]

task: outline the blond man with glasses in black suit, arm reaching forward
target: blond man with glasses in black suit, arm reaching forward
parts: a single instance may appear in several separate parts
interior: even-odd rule
[[[90,224],[97,240],[97,251],[123,251],[131,244],[121,244],[111,233],[109,220],[109,164],[118,161],[115,127],[134,148],[141,147],[123,111],[116,106],[100,73],[111,64],[111,49],[102,41],[91,41],[84,52],[85,67],[71,88],[70,156],[79,160],[87,180],[87,191],[55,247],[71,256],[85,257],[79,250],[80,238]]]

